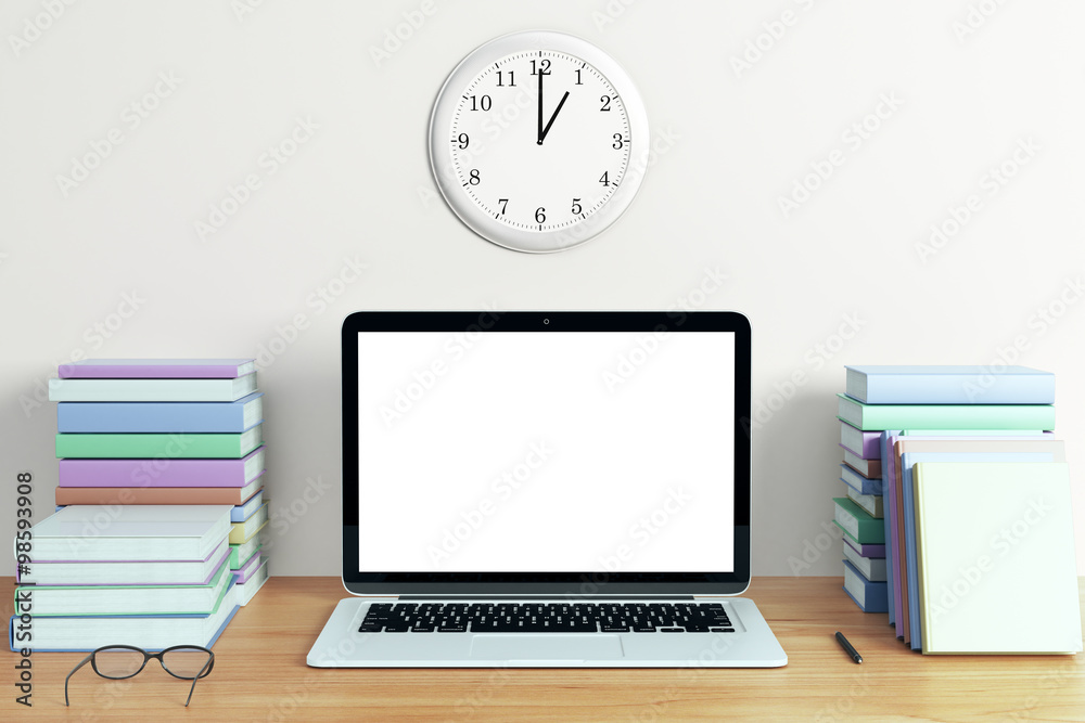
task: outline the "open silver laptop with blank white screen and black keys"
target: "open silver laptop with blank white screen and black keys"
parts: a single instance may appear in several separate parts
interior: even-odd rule
[[[750,584],[750,325],[371,311],[343,354],[317,668],[779,667]]]

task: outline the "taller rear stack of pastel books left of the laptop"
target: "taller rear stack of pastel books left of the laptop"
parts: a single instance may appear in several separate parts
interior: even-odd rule
[[[263,392],[252,359],[89,359],[49,382],[56,504],[232,505],[245,605],[268,579]]]

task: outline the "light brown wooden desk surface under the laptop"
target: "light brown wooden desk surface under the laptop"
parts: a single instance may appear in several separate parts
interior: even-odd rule
[[[1085,579],[1080,585],[1085,594]],[[1085,720],[1085,656],[922,656],[893,637],[884,615],[864,615],[840,588],[840,578],[754,582],[748,595],[787,650],[786,668],[318,670],[305,656],[343,588],[334,578],[272,578],[216,643],[215,671],[196,684],[188,709],[188,685],[154,663],[130,681],[81,670],[65,708],[64,677],[82,654],[40,653],[31,658],[33,709],[14,702],[15,672],[4,666],[0,719]],[[9,597],[8,616],[11,606]],[[837,645],[837,630],[863,664]]]

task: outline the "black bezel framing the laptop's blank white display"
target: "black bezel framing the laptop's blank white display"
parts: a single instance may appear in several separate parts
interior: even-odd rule
[[[735,570],[362,572],[358,569],[358,335],[365,332],[735,334]],[[733,311],[359,311],[343,322],[343,585],[356,595],[733,595],[750,584],[751,332]]]

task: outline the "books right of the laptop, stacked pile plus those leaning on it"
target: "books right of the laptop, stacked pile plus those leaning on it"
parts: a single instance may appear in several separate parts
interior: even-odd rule
[[[1063,635],[1068,625],[1076,629],[1081,649],[1069,516],[1054,521],[1057,515],[1050,515],[1044,521],[1048,533],[1033,535],[1032,545],[1005,542],[1013,554],[1003,560],[1000,571],[991,573],[988,565],[996,556],[996,522],[1006,524],[1013,504],[1019,515],[1038,515],[1021,507],[1021,494],[1043,488],[1046,498],[1065,501],[1069,508],[1063,446],[1050,434],[1054,401],[1054,375],[1023,366],[847,367],[838,417],[848,496],[834,499],[837,522],[845,531],[844,589],[864,610],[889,612],[897,637],[911,649],[1070,651],[1074,648],[1065,641],[1072,634]],[[1016,502],[1006,508],[1007,500]],[[1061,552],[1035,544],[1042,537],[1067,533],[1071,543]],[[883,543],[880,551],[878,543]],[[1030,546],[1031,558],[1022,557]],[[946,567],[950,559],[959,563],[956,568]],[[1039,650],[992,632],[1005,628],[998,616],[1005,617],[1011,609],[1006,602],[1014,598],[1006,571],[1029,565],[1061,566],[1063,574],[1051,580],[1058,579],[1052,584],[1064,603],[1070,601],[1065,581],[1073,582],[1073,614],[1064,612],[1059,619],[1065,624],[1055,625],[1062,642],[1051,643],[1051,635],[1045,635],[1051,631],[1031,630],[1034,641],[1043,641],[1038,645],[1058,650]],[[935,571],[941,577],[932,578]],[[1018,582],[1019,590],[1032,584]]]

